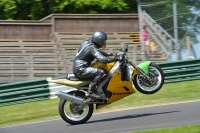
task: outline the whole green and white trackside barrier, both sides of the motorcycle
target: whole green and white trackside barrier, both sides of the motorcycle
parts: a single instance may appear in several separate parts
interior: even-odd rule
[[[200,59],[157,63],[164,71],[165,84],[200,79]],[[46,78],[0,85],[0,107],[56,98],[56,91],[73,88],[48,83]]]

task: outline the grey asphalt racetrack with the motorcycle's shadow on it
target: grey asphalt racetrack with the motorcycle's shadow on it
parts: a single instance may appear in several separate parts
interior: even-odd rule
[[[8,126],[0,128],[0,133],[117,133],[190,124],[200,124],[200,101],[94,114],[80,125],[56,119]]]

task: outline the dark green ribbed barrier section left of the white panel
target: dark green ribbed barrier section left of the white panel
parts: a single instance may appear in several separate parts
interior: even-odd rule
[[[45,79],[14,82],[0,85],[0,107],[49,99],[48,82]]]

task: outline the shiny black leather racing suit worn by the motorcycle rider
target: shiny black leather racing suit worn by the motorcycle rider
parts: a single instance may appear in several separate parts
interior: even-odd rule
[[[106,72],[100,68],[90,67],[91,62],[97,59],[103,63],[109,63],[117,61],[116,58],[109,58],[106,52],[99,49],[97,45],[89,40],[84,40],[79,49],[78,53],[73,62],[73,73],[77,78],[91,79],[94,80],[96,86],[100,83]]]

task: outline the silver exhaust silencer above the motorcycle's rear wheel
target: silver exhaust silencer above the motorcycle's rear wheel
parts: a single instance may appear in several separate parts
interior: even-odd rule
[[[78,103],[78,104],[84,104],[85,103],[84,99],[70,95],[70,94],[67,94],[67,93],[64,93],[62,91],[56,92],[56,95],[59,98],[65,99],[65,100],[73,102],[73,103]]]

